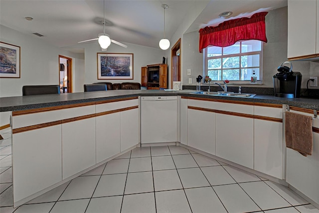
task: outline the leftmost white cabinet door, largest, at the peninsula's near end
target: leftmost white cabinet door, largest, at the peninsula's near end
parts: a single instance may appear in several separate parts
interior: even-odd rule
[[[61,124],[12,135],[13,200],[62,180]]]

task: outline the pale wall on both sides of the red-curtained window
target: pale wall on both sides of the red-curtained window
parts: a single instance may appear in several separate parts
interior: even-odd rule
[[[264,44],[263,54],[263,85],[247,85],[248,87],[273,87],[272,77],[277,73],[278,66],[287,61],[287,7],[270,11],[266,15],[266,34],[268,42]],[[177,35],[175,35],[176,37]],[[183,85],[188,84],[188,78],[192,78],[192,84],[196,85],[196,77],[203,75],[203,55],[199,53],[199,33],[193,31],[180,35],[182,37],[182,74]],[[313,63],[312,69],[310,64]],[[319,75],[316,71],[318,63],[293,61],[293,71],[303,75],[302,88],[306,88],[310,72],[313,76]],[[317,65],[317,66],[316,66]],[[187,69],[191,69],[191,76],[187,76]],[[318,70],[318,69],[317,69]],[[316,74],[317,72],[317,74]],[[245,85],[246,86],[246,85]],[[313,88],[316,89],[316,88]]]

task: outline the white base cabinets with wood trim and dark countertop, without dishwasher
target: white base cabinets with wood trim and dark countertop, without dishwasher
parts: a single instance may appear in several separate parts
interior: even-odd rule
[[[288,183],[318,208],[318,183],[312,183],[309,187],[300,185],[296,178],[290,178],[296,172],[289,165],[288,158],[297,159],[297,163],[304,163],[306,158],[298,160],[300,157],[295,156],[296,153],[290,153],[290,150],[286,156],[282,135],[283,112],[287,105],[291,106],[291,110],[300,111],[302,108],[303,113],[311,113],[319,110],[318,100],[284,99],[266,95],[256,95],[253,98],[216,97],[150,90],[0,98],[0,111],[12,111],[14,206],[26,203],[121,153],[140,146],[140,116],[143,110],[141,96],[178,97],[177,141],[172,141],[177,142],[176,145],[224,159],[250,172],[276,179],[282,184]],[[211,116],[211,119],[200,119],[207,116]],[[199,120],[195,120],[197,117]],[[314,153],[307,157],[307,161],[311,161],[311,165],[315,167],[312,170],[313,177],[319,175],[318,120],[314,120]],[[225,126],[222,121],[228,125]],[[202,132],[212,133],[207,139],[197,137],[198,126],[192,124],[198,122],[203,123],[201,127],[208,128],[201,129]],[[211,123],[206,125],[206,122]],[[236,130],[238,123],[244,123],[237,125],[239,132]],[[274,129],[274,126],[279,129],[276,134],[265,134]],[[222,130],[228,132],[228,144],[223,141],[226,134],[220,134],[223,133]],[[252,136],[252,132],[259,136]],[[267,136],[271,140],[260,140]],[[236,137],[236,140],[232,137]],[[270,141],[275,141],[275,144],[269,143]],[[239,146],[241,149],[235,147],[238,145],[235,142],[243,143]],[[273,151],[270,152],[267,148]],[[272,162],[274,160],[277,161]],[[263,164],[265,162],[273,165],[272,168]],[[305,168],[301,164],[297,169],[300,167]]]

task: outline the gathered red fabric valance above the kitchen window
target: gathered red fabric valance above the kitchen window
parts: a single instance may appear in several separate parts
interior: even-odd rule
[[[227,47],[240,40],[260,40],[267,42],[265,16],[268,12],[258,12],[250,18],[243,17],[224,21],[218,26],[199,30],[199,52],[209,45]]]

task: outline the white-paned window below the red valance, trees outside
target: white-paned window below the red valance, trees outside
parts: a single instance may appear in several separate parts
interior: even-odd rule
[[[253,72],[262,80],[262,41],[238,41],[228,47],[204,49],[204,76],[212,81],[250,81]],[[245,83],[245,82],[241,82]]]

